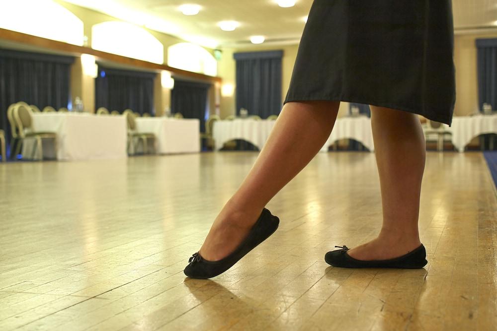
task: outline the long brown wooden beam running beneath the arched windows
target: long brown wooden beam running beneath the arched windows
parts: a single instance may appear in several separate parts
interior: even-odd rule
[[[56,40],[36,37],[36,36],[16,32],[16,31],[12,31],[12,30],[6,30],[6,29],[0,28],[0,39],[15,42],[15,43],[20,43],[20,44],[30,45],[30,46],[41,47],[41,48],[45,48],[45,49],[51,50],[51,51],[60,51],[60,52],[72,53],[74,55],[90,54],[90,55],[93,55],[96,58],[98,58],[98,60],[111,61],[114,63],[126,65],[126,66],[135,66],[137,68],[153,69],[153,70],[167,70],[167,71],[170,71],[172,73],[175,73],[175,74],[178,74],[181,76],[185,76],[188,78],[194,78],[194,79],[200,79],[200,80],[204,80],[204,81],[209,81],[212,83],[216,83],[216,82],[221,83],[221,81],[222,81],[221,77],[208,76],[208,75],[204,75],[202,73],[191,72],[191,71],[187,71],[187,70],[173,68],[171,66],[159,65],[159,64],[152,63],[152,62],[127,58],[127,57],[116,55],[116,54],[97,51],[97,50],[94,50],[94,49],[89,48],[89,47],[83,47],[83,46],[68,44],[68,43],[64,43],[64,42],[60,42],[60,41],[56,41]]]

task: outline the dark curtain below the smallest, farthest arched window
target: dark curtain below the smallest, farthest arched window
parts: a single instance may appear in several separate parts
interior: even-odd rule
[[[210,84],[174,77],[174,88],[171,90],[171,113],[181,113],[187,119],[199,119],[200,131],[205,132],[207,95],[210,86]]]

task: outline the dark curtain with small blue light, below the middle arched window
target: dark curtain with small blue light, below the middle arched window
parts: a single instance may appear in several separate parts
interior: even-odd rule
[[[154,114],[154,79],[157,73],[98,66],[95,79],[95,109],[105,107]]]

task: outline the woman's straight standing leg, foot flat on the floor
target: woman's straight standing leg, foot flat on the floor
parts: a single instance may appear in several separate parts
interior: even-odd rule
[[[419,196],[426,145],[417,115],[370,106],[380,175],[383,226],[376,239],[349,250],[358,260],[384,260],[418,247]]]

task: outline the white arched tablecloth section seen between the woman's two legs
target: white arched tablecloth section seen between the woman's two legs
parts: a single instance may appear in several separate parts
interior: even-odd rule
[[[327,152],[328,147],[340,139],[355,139],[361,142],[371,152],[374,151],[373,132],[371,119],[367,116],[342,117],[336,119],[330,137],[323,145],[322,152]]]

